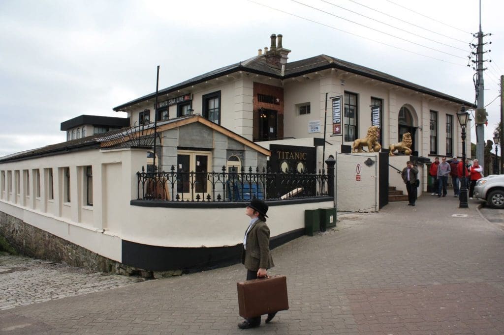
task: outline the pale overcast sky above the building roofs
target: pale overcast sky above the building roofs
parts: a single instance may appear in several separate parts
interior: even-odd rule
[[[500,120],[502,13],[482,0],[486,139]],[[0,0],[0,156],[65,141],[60,123],[82,114],[125,117],[112,108],[155,92],[157,65],[162,89],[256,56],[273,33],[289,61],[327,54],[473,102],[478,29],[478,0]]]

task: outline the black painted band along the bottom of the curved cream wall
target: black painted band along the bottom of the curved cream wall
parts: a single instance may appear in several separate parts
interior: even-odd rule
[[[304,228],[272,237],[270,248],[273,249],[302,235]],[[122,240],[122,263],[148,271],[195,272],[239,263],[242,247],[240,243],[233,246],[184,248]]]

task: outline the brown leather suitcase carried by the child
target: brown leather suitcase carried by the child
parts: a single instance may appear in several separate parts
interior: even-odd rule
[[[272,276],[236,283],[240,316],[250,318],[289,309],[287,278]]]

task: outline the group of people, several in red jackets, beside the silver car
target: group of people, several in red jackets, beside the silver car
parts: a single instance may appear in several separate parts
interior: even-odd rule
[[[430,164],[429,175],[432,179],[432,188],[437,190],[432,192],[431,195],[437,195],[438,197],[446,197],[448,194],[448,176],[452,177],[453,192],[454,197],[460,195],[460,185],[461,178],[465,176],[467,180],[470,180],[469,185],[469,199],[473,199],[474,186],[476,182],[483,178],[483,167],[479,165],[478,159],[474,159],[473,163],[469,163],[469,159],[465,162],[458,161],[457,157],[448,162],[446,157],[442,158],[442,162],[439,162],[439,157],[434,158],[434,162]]]

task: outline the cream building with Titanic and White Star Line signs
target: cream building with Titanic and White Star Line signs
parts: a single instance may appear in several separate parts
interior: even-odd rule
[[[81,131],[81,138],[0,157],[0,233],[28,255],[102,271],[222,265],[237,261],[245,227],[239,222],[246,220],[243,202],[228,199],[229,185],[214,183],[213,171],[229,177],[271,164],[321,169],[325,142],[326,156],[334,155],[372,124],[380,125],[384,148],[410,132],[418,156],[460,156],[456,113],[471,103],[326,55],[288,62],[289,52],[282,36],[272,35],[264,54],[160,90],[157,108],[155,93],[115,107],[128,113],[130,128],[86,137]],[[139,173],[154,134],[156,165],[166,172],[160,188],[149,184],[153,175]],[[470,138],[466,143],[470,152]],[[363,179],[376,179],[376,166]],[[184,184],[191,172],[205,178]],[[324,190],[327,180],[319,182]],[[255,183],[256,195],[267,197]],[[376,207],[388,185],[369,185],[355,192]],[[146,200],[149,192],[158,200]],[[334,204],[324,192],[304,196],[269,201],[273,246],[304,233],[305,210]]]

